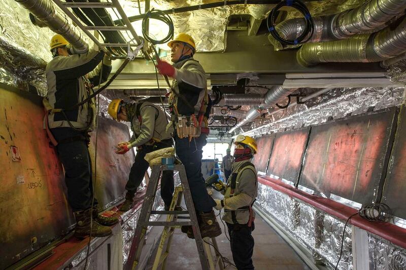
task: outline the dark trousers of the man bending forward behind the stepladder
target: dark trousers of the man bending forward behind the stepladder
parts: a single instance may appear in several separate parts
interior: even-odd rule
[[[147,153],[156,151],[161,148],[172,146],[172,139],[155,143],[155,145],[143,145],[141,149],[137,149],[136,159],[131,167],[130,174],[128,176],[125,189],[131,195],[136,194],[137,188],[140,186],[144,179],[145,172],[148,169],[148,162],[144,160]],[[163,171],[161,177],[161,197],[165,206],[170,206],[172,202],[172,196],[174,194],[174,171]]]

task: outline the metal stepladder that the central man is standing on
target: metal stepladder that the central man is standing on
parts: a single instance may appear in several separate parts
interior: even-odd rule
[[[169,211],[152,211],[155,194],[158,188],[158,180],[162,171],[174,170],[179,172],[181,180],[181,186],[178,186],[175,190],[174,198],[171,203]],[[186,211],[174,211],[176,206],[179,206],[182,201],[182,195],[185,197]],[[165,214],[168,215],[166,221],[150,221],[152,214]],[[179,214],[189,214],[189,216],[178,216]],[[190,219],[190,221],[178,221],[179,219]],[[154,261],[153,269],[157,269],[162,264],[162,269],[165,267],[166,257],[169,254],[169,248],[171,246],[172,236],[174,234],[175,227],[182,225],[191,225],[193,235],[196,241],[197,252],[200,259],[201,268],[204,270],[214,270],[216,265],[220,265],[220,269],[223,269],[223,265],[220,262],[220,254],[217,253],[218,247],[215,238],[202,239],[194,210],[192,196],[190,193],[189,183],[187,181],[185,168],[182,164],[179,165],[154,165],[152,167],[151,177],[147,187],[147,193],[144,198],[143,207],[141,209],[140,217],[138,219],[136,232],[132,239],[131,248],[128,254],[128,259],[125,264],[126,270],[137,269],[140,261],[142,248],[144,245],[145,235],[147,233],[148,226],[164,226],[161,241],[158,246],[157,255]],[[206,240],[207,239],[207,240]],[[163,248],[166,244],[166,250],[162,254]],[[213,259],[211,248],[209,245],[213,245],[216,252],[216,257]]]

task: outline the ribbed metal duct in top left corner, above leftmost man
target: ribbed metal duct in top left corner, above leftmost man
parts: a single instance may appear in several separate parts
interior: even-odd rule
[[[78,52],[86,52],[88,45],[83,39],[82,33],[67,19],[65,14],[60,13],[51,0],[15,0],[29,10],[40,21],[66,38]]]

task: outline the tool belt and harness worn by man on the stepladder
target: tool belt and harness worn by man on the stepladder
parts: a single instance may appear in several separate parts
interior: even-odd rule
[[[190,59],[188,61],[185,61],[182,66],[184,66],[189,61],[196,61],[196,60]],[[207,117],[205,117],[206,109],[209,105],[209,95],[207,93],[207,89],[205,90],[205,95],[201,100],[200,109],[197,113],[197,117],[196,117],[195,113],[192,113],[190,116],[179,114],[179,110],[176,105],[175,97],[182,99],[185,102],[185,104],[190,106],[193,110],[194,110],[194,106],[192,106],[181,93],[179,93],[179,94],[176,93],[173,90],[173,87],[171,88],[171,92],[168,93],[168,97],[169,97],[169,103],[170,103],[169,109],[172,114],[171,120],[174,124],[174,128],[176,129],[176,132],[177,132],[177,135],[179,138],[182,139],[182,138],[188,137],[189,141],[191,141],[191,139],[193,137],[199,137],[200,134],[209,134],[210,129],[204,128],[201,126],[203,121],[205,121],[206,126],[209,126],[208,122],[207,122]]]

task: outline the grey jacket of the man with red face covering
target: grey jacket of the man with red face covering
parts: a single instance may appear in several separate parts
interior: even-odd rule
[[[246,163],[247,161],[248,160],[234,162],[232,165],[231,173],[237,172],[239,170],[240,166],[243,165],[244,163]],[[258,179],[257,179],[257,172],[255,170],[255,167],[247,166],[242,171],[240,171],[239,175],[236,178],[234,195],[232,196],[232,197],[238,197],[241,194],[245,194],[244,197],[248,198],[248,200],[246,200],[246,199],[238,200],[238,202],[234,202],[232,204],[228,203],[227,198],[231,198],[230,184],[231,183],[229,180],[227,188],[224,191],[224,201],[225,201],[224,210],[235,210],[240,207],[250,206],[253,204],[253,202],[255,201],[255,198],[257,197],[257,194],[258,194]],[[249,210],[235,211],[235,215],[236,215],[236,220],[239,224],[247,224],[249,221],[249,218],[250,218],[250,211]],[[252,211],[252,215],[253,215],[253,217],[255,217],[254,211]],[[227,223],[233,224],[233,221],[231,218],[231,212],[224,211],[223,220]]]

